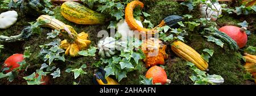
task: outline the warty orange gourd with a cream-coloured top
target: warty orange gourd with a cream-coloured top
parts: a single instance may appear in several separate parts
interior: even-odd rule
[[[142,51],[146,55],[143,59],[146,62],[146,67],[156,66],[157,64],[164,64],[164,59],[167,59],[166,45],[158,38],[149,38],[142,43]]]

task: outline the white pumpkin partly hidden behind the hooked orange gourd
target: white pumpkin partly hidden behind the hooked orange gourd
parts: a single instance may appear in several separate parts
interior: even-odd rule
[[[135,20],[136,23],[139,24],[139,26],[143,27],[142,22]],[[117,32],[122,35],[121,40],[126,41],[127,38],[133,37],[134,33],[133,30],[129,27],[129,25],[126,23],[125,19],[122,19],[117,23]]]

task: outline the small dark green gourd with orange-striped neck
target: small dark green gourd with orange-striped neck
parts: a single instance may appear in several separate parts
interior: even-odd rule
[[[170,15],[164,18],[159,25],[157,25],[154,29],[157,27],[163,27],[164,25],[168,25],[169,27],[174,27],[177,25],[179,21],[183,21],[182,16],[179,15]]]

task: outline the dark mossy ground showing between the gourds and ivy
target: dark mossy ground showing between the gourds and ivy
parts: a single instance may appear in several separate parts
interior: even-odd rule
[[[150,20],[152,24],[158,25],[159,22],[168,15],[185,15],[192,14],[194,18],[197,18],[199,15],[198,11],[188,12],[187,7],[179,5],[178,2],[168,1],[168,0],[160,0],[160,1],[143,1],[146,11],[151,16],[146,18]],[[55,11],[55,18],[63,21],[63,23],[71,25],[77,33],[85,32],[89,34],[89,40],[92,41],[91,46],[96,46],[98,40],[101,38],[97,37],[97,33],[100,30],[106,30],[109,22],[102,25],[77,25],[63,18],[60,14],[60,6],[57,6],[53,9]],[[256,35],[255,35],[255,18],[252,20],[248,19],[247,16],[243,16],[244,18],[237,18],[236,15],[224,15],[222,18],[218,19],[217,24],[218,27],[223,25],[236,25],[237,23],[242,22],[243,20],[248,20],[251,24],[250,30],[251,35],[248,37],[247,46],[256,46]],[[246,18],[247,17],[247,18]],[[250,18],[252,18],[251,16]],[[254,16],[255,17],[255,16]],[[33,19],[34,20],[34,19]],[[15,34],[19,34],[19,30],[22,27],[25,27],[27,22],[33,21],[25,19],[18,19],[17,23],[13,25],[12,29],[0,30],[0,34],[11,36]],[[14,30],[13,30],[14,29]],[[27,41],[15,42],[15,43],[2,43],[5,45],[5,49],[2,51],[0,56],[0,64],[4,62],[4,60],[12,54],[15,53],[23,53],[24,47],[30,46],[31,56],[26,59],[26,62],[30,64],[28,71],[24,73],[22,76],[30,75],[32,72],[35,72],[35,69],[40,68],[40,65],[43,63],[41,57],[38,56],[40,52],[39,45],[44,45],[52,41],[52,39],[47,40],[46,33],[50,32],[51,29],[43,28],[41,34],[35,34],[29,38]],[[108,30],[109,31],[109,30]],[[12,33],[14,32],[14,33]],[[216,74],[224,77],[224,84],[245,84],[245,80],[243,79],[243,75],[245,71],[243,69],[243,62],[240,58],[236,56],[238,52],[230,51],[229,48],[225,45],[224,48],[217,46],[215,43],[208,42],[206,38],[201,36],[197,32],[189,33],[189,36],[185,37],[185,43],[191,46],[200,54],[203,53],[203,49],[212,49],[214,50],[214,55],[209,59],[209,73],[210,75]],[[166,60],[165,70],[167,72],[167,76],[172,80],[171,84],[193,84],[190,80],[189,76],[191,76],[192,70],[189,69],[188,66],[185,65],[185,61],[179,57],[177,57],[174,53],[172,53],[170,45],[167,47],[167,54],[169,54],[168,59]],[[242,53],[242,52],[241,52]],[[50,84],[68,84],[71,85],[73,82],[79,82],[79,84],[93,84],[93,69],[95,67],[91,67],[91,64],[96,62],[99,56],[95,57],[77,57],[71,58],[66,56],[66,62],[54,62],[53,65],[56,65],[57,68],[61,70],[61,76],[57,78],[52,78],[50,80]],[[85,72],[86,75],[82,75],[75,80],[72,73],[64,72],[67,68],[79,68],[82,64],[86,64],[88,67]],[[144,75],[147,69],[143,67],[142,70],[129,72],[127,73],[127,78],[123,78],[120,84],[139,84],[139,75]],[[0,82],[2,84],[26,84],[26,81],[22,80],[22,78],[14,80],[14,82],[8,82],[5,79],[1,79]]]

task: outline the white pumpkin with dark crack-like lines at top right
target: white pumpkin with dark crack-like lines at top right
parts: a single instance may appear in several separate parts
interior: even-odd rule
[[[218,2],[210,2],[207,1],[206,3],[212,5],[212,7],[207,6],[205,4],[200,5],[200,12],[201,15],[205,18],[210,18],[213,21],[216,21],[217,18],[214,18],[214,16],[221,15],[221,5]]]

